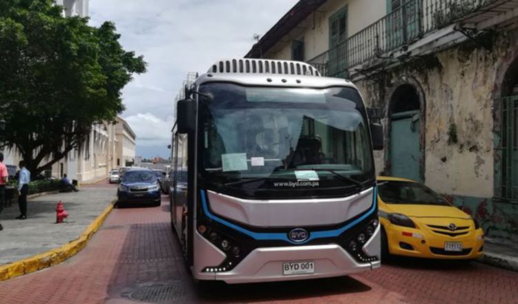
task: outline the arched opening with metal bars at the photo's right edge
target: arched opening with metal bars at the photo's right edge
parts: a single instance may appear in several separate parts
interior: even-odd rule
[[[495,196],[518,200],[518,58],[508,66],[495,106]]]

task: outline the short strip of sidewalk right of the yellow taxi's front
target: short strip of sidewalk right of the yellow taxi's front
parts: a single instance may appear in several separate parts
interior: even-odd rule
[[[518,272],[518,244],[507,240],[486,238],[482,263]]]

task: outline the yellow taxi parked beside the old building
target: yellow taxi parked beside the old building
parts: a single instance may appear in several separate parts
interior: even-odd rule
[[[424,184],[378,177],[381,255],[470,260],[483,256],[477,220]]]

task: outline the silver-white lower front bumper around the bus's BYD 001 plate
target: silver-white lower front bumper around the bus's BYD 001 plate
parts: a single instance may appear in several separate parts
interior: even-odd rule
[[[257,283],[271,281],[293,281],[312,278],[328,278],[333,276],[345,276],[356,274],[380,267],[380,234],[379,226],[370,240],[363,246],[363,251],[370,256],[377,256],[378,260],[370,263],[358,263],[345,249],[338,244],[307,245],[289,247],[262,247],[251,251],[235,268],[229,272],[204,273],[195,272],[195,278],[199,280],[218,280],[229,284]],[[200,237],[198,236],[195,237]],[[198,240],[200,241],[200,240]],[[204,238],[201,240],[205,241]],[[207,241],[205,249],[213,247]],[[206,254],[222,254],[219,252],[206,252]],[[284,275],[283,263],[287,262],[314,262],[314,273]]]

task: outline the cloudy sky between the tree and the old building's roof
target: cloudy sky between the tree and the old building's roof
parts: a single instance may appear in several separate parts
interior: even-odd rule
[[[90,0],[90,25],[113,21],[125,50],[144,55],[148,72],[123,91],[122,117],[137,155],[168,158],[175,95],[188,72],[243,57],[298,0]]]

